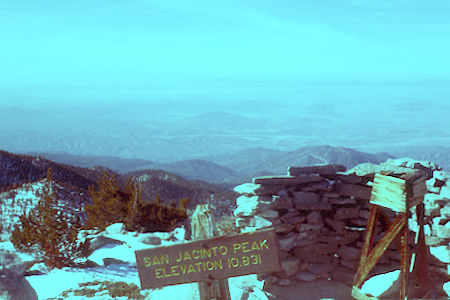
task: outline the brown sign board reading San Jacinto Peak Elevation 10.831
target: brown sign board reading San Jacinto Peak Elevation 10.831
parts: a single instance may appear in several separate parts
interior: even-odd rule
[[[280,271],[274,230],[135,251],[141,288]]]

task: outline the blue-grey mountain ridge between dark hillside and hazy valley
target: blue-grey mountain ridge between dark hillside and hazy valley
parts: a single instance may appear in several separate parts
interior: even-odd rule
[[[123,159],[101,156],[80,156],[67,153],[34,153],[63,164],[92,168],[101,165],[119,173],[140,170],[165,170],[188,180],[201,180],[228,187],[267,174],[286,174],[289,166],[342,164],[352,168],[364,162],[380,163],[393,156],[386,153],[366,153],[344,147],[314,146],[295,151],[253,148],[234,154],[210,156],[204,159],[156,163],[143,159]]]

